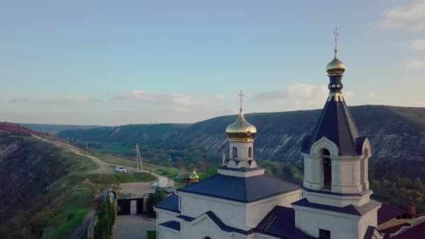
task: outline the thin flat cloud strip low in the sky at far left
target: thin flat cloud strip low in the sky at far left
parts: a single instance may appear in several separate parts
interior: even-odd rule
[[[87,103],[87,102],[96,102],[101,101],[100,99],[93,96],[81,96],[76,99],[69,97],[17,97],[10,99],[10,103],[47,103],[47,104],[75,104],[75,103]]]

